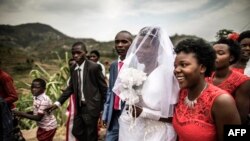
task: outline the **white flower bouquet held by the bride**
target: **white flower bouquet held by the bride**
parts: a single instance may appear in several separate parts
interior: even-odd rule
[[[119,97],[126,101],[128,105],[139,102],[139,95],[147,74],[134,68],[124,68],[118,75],[120,83],[118,85]]]

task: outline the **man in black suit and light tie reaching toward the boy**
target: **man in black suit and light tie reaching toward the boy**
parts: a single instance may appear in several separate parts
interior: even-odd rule
[[[73,44],[71,52],[76,65],[71,68],[69,86],[46,111],[60,107],[71,94],[75,94],[77,113],[72,134],[78,141],[97,141],[98,118],[106,98],[107,84],[100,65],[86,59],[87,49],[83,42]]]

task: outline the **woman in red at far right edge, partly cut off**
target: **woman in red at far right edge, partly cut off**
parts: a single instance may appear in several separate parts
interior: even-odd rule
[[[232,64],[231,69],[246,74],[245,68],[250,58],[250,30],[242,32],[238,42],[241,48],[240,59],[235,64]],[[247,75],[250,76],[250,74]]]

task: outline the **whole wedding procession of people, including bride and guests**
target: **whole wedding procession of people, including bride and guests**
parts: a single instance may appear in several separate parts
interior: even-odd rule
[[[106,141],[222,141],[225,125],[250,125],[249,30],[214,43],[184,39],[174,47],[162,28],[144,27],[135,38],[118,32],[114,48],[118,58],[106,75],[100,53],[88,54],[83,42],[74,43],[67,88],[52,102],[46,82],[34,79],[30,112],[15,110],[13,80],[0,69],[0,98],[15,116],[37,121],[39,141],[53,140],[57,122],[52,111],[67,99],[67,141],[97,141],[100,121]],[[124,94],[122,76],[128,69],[145,74],[146,80],[136,87],[131,78],[134,91]]]

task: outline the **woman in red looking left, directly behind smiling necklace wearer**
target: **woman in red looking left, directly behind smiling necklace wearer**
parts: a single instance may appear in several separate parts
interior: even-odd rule
[[[250,110],[250,78],[232,71],[230,65],[238,61],[239,45],[231,39],[220,39],[214,46],[216,51],[216,70],[207,81],[230,93],[235,101],[242,124],[248,123]]]

